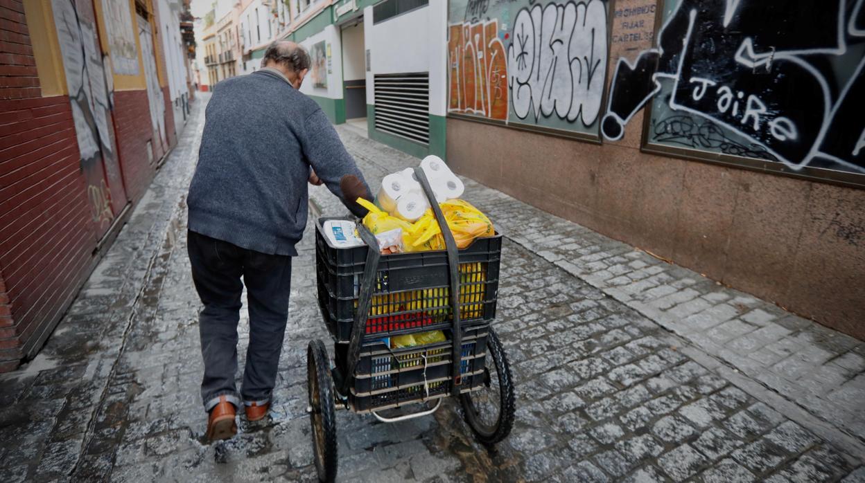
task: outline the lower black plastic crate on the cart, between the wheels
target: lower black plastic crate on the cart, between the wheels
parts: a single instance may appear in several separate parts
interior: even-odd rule
[[[487,334],[486,326],[463,333],[460,374],[484,370]],[[352,396],[367,397],[424,381],[449,380],[452,353],[451,340],[399,349],[390,349],[387,342],[381,341],[363,346],[355,367]]]

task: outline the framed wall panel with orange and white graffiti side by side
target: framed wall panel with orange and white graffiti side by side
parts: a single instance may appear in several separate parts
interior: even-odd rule
[[[607,60],[607,4],[454,1],[448,110],[590,132]]]

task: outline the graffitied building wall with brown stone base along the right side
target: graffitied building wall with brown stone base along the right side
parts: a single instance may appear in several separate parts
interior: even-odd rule
[[[451,0],[447,160],[865,339],[861,7]]]

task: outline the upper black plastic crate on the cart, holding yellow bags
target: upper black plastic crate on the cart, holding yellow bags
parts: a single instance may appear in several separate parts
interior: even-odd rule
[[[348,342],[355,321],[357,296],[367,246],[336,248],[316,224],[318,303],[325,325],[337,342]],[[502,236],[477,238],[458,255],[460,321],[465,326],[496,317]],[[364,340],[381,339],[452,325],[450,278],[446,251],[382,255],[375,277]]]

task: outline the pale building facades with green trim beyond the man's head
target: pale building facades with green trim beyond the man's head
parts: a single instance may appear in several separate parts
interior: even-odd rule
[[[331,122],[365,121],[382,143],[445,156],[446,2],[224,0],[203,24],[202,89],[258,70],[272,41],[296,41],[312,58],[301,91]]]

